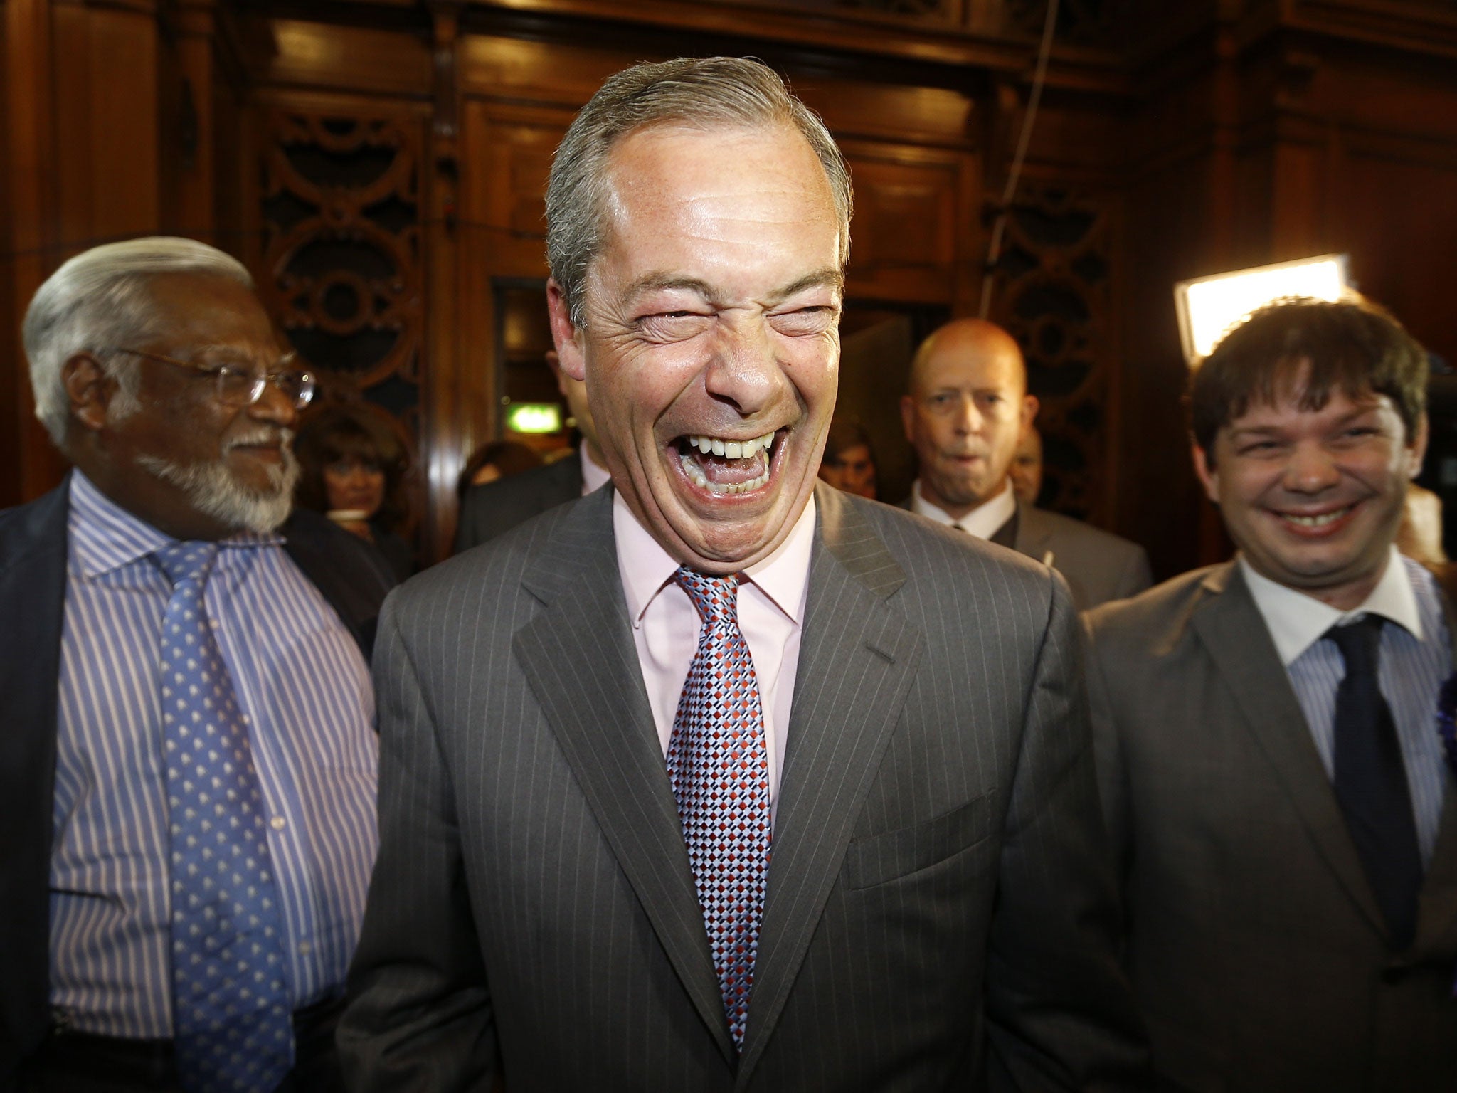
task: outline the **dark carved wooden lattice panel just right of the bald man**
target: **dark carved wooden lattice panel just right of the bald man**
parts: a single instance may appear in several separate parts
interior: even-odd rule
[[[1100,514],[1112,283],[1109,208],[1088,194],[1026,182],[1008,210],[992,318],[1027,359],[1042,401],[1043,503]]]

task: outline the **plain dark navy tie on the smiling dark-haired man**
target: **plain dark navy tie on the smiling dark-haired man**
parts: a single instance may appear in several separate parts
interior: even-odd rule
[[[1381,622],[1365,615],[1326,631],[1346,663],[1336,689],[1335,788],[1391,946],[1406,949],[1416,936],[1422,855],[1402,743],[1377,678]]]

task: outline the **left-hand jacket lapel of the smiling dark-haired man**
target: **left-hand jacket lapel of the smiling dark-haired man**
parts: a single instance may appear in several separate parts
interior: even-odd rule
[[[1326,863],[1371,924],[1386,933],[1330,778],[1249,586],[1230,563],[1211,573],[1203,587],[1214,595],[1195,612],[1193,628],[1209,659]]]

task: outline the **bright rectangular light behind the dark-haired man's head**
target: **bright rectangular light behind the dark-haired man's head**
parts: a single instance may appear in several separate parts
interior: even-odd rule
[[[1285,296],[1339,300],[1349,281],[1346,255],[1327,254],[1295,262],[1257,265],[1212,277],[1195,277],[1174,286],[1179,340],[1193,367],[1209,356],[1220,338],[1257,307]]]

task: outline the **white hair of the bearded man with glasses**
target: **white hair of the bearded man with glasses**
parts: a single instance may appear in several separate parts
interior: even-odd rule
[[[149,236],[85,251],[52,273],[25,312],[25,356],[31,361],[35,415],[57,447],[66,443],[70,399],[61,366],[77,353],[93,353],[117,380],[112,410],[124,417],[137,404],[136,360],[108,356],[154,334],[156,313],[147,291],[159,274],[201,273],[252,289],[254,278],[236,258],[195,239]]]

